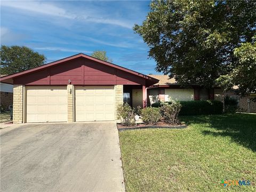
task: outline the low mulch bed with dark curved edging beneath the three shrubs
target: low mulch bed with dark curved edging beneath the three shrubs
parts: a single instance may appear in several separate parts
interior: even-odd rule
[[[118,131],[138,130],[138,129],[158,129],[158,128],[159,129],[161,129],[161,128],[164,128],[164,129],[184,129],[186,127],[187,127],[186,124],[170,125],[170,124],[167,124],[163,121],[158,122],[156,125],[146,125],[144,123],[139,123],[139,124],[137,124],[136,127],[134,127],[134,126],[128,127],[128,126],[124,126],[122,124],[117,123]]]

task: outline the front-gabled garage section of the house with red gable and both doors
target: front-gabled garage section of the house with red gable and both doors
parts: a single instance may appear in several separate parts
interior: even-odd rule
[[[146,87],[158,79],[79,53],[8,75],[13,122],[114,121],[123,100],[147,106]]]

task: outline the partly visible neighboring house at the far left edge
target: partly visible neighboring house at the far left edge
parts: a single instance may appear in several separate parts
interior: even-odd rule
[[[6,75],[1,75],[1,77],[4,77]],[[12,105],[13,101],[13,85],[1,83],[0,84],[0,100],[1,100],[1,109],[3,110],[9,110],[9,106]]]

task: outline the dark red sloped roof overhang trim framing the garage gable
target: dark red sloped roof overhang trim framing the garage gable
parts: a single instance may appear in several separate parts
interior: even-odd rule
[[[45,64],[45,65],[38,66],[38,67],[35,67],[35,68],[32,68],[32,69],[28,69],[28,70],[25,70],[25,71],[21,71],[21,72],[19,72],[19,73],[15,73],[15,74],[12,74],[12,75],[7,75],[7,76],[4,76],[4,77],[1,77],[1,78],[0,78],[0,82],[2,82],[2,83],[8,83],[8,84],[13,84],[13,79],[14,79],[14,78],[17,78],[17,77],[20,77],[20,76],[23,76],[23,75],[28,75],[28,74],[34,73],[34,72],[36,72],[36,71],[44,70],[44,69],[46,69],[46,68],[50,68],[50,67],[53,67],[53,66],[55,66],[55,65],[60,65],[60,64],[63,63],[63,62],[71,61],[71,60],[77,59],[77,58],[86,58],[86,59],[90,59],[90,60],[92,60],[92,61],[99,62],[99,63],[101,63],[102,65],[114,67],[114,68],[116,68],[116,69],[126,71],[127,73],[130,73],[130,74],[133,74],[133,75],[137,75],[137,76],[139,76],[139,77],[141,77],[141,78],[146,79],[146,85],[147,85],[147,86],[151,86],[151,85],[154,85],[154,84],[156,84],[156,83],[159,82],[159,80],[156,79],[156,78],[153,78],[153,77],[150,77],[150,76],[147,76],[147,75],[138,73],[138,72],[133,71],[133,70],[131,70],[131,69],[127,69],[127,68],[124,68],[124,67],[115,65],[115,64],[110,63],[110,62],[107,62],[107,61],[103,61],[103,60],[100,60],[100,59],[91,57],[91,56],[86,55],[86,54],[83,54],[83,53],[79,53],[79,54],[76,54],[76,55],[73,55],[73,56],[70,56],[70,57],[67,57],[67,58],[64,58],[64,59],[60,59],[60,60],[57,60],[57,61],[54,61],[54,62],[50,62],[50,63],[47,63],[47,64]]]

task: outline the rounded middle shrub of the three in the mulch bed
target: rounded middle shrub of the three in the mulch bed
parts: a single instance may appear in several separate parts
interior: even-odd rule
[[[146,124],[155,125],[162,116],[159,108],[146,107],[141,110],[141,117]]]

